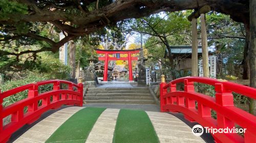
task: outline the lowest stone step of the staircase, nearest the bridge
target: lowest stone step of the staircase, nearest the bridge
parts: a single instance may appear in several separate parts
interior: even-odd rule
[[[84,100],[84,102],[106,104],[156,104],[153,100]]]

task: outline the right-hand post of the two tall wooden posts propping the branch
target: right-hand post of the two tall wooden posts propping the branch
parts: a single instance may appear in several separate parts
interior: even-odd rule
[[[201,19],[201,32],[202,32],[202,55],[203,55],[203,73],[204,77],[209,77],[209,65],[208,65],[208,43],[206,33],[205,14],[200,14]]]

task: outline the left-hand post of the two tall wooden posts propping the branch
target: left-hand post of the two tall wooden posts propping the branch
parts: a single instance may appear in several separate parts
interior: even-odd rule
[[[197,18],[192,19],[192,76],[198,76]]]

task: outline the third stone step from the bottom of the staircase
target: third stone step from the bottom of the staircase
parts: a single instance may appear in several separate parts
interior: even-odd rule
[[[150,93],[86,93],[85,97],[152,97]]]

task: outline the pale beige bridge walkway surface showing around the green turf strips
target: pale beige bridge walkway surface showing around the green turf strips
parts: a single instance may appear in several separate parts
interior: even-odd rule
[[[60,125],[82,108],[84,107],[68,107],[58,110],[30,128],[14,142],[45,142]],[[107,108],[104,110],[97,119],[86,142],[111,143],[118,113],[119,109]],[[176,116],[152,111],[146,111],[146,113],[150,117],[160,142],[204,142],[201,137],[193,135],[191,128]]]

